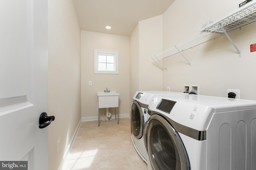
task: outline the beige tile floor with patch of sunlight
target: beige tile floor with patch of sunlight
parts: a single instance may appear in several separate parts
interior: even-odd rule
[[[131,135],[130,118],[82,122],[62,170],[146,170]]]

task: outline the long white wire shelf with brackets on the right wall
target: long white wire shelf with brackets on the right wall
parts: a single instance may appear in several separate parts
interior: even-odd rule
[[[164,64],[161,61],[162,59],[169,57],[171,55],[175,55],[177,53],[181,53],[182,51],[185,51],[187,49],[191,49],[197,45],[205,43],[206,41],[210,41],[224,34],[226,34],[226,36],[230,39],[227,33],[230,33],[231,31],[234,31],[236,29],[240,29],[246,25],[250,25],[255,21],[256,21],[256,0],[252,0],[248,4],[235,10],[231,14],[228,14],[227,16],[221,18],[220,20],[210,23],[205,27],[201,28],[200,29],[201,32],[199,34],[194,35],[186,39],[185,41],[182,41],[151,58],[156,62],[158,67],[160,67],[162,70],[165,70],[165,69],[167,70],[167,68],[164,66]],[[230,41],[234,45],[231,39]],[[236,45],[234,45],[234,47],[237,49]],[[240,55],[240,51],[238,49],[237,51]],[[189,63],[187,59],[186,61]]]

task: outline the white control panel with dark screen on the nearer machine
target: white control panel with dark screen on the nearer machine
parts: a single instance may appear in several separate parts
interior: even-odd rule
[[[171,96],[155,96],[148,108],[152,113],[166,115],[175,122],[196,130],[205,131],[214,114],[214,108],[204,104],[177,100]]]

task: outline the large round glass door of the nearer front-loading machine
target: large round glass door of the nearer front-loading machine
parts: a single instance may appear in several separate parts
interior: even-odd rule
[[[148,162],[154,170],[190,170],[180,135],[162,116],[150,116],[145,126],[144,142]]]

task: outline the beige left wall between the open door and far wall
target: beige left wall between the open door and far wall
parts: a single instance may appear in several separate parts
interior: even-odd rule
[[[55,116],[49,170],[57,170],[81,119],[80,27],[72,0],[48,0],[48,115]]]

